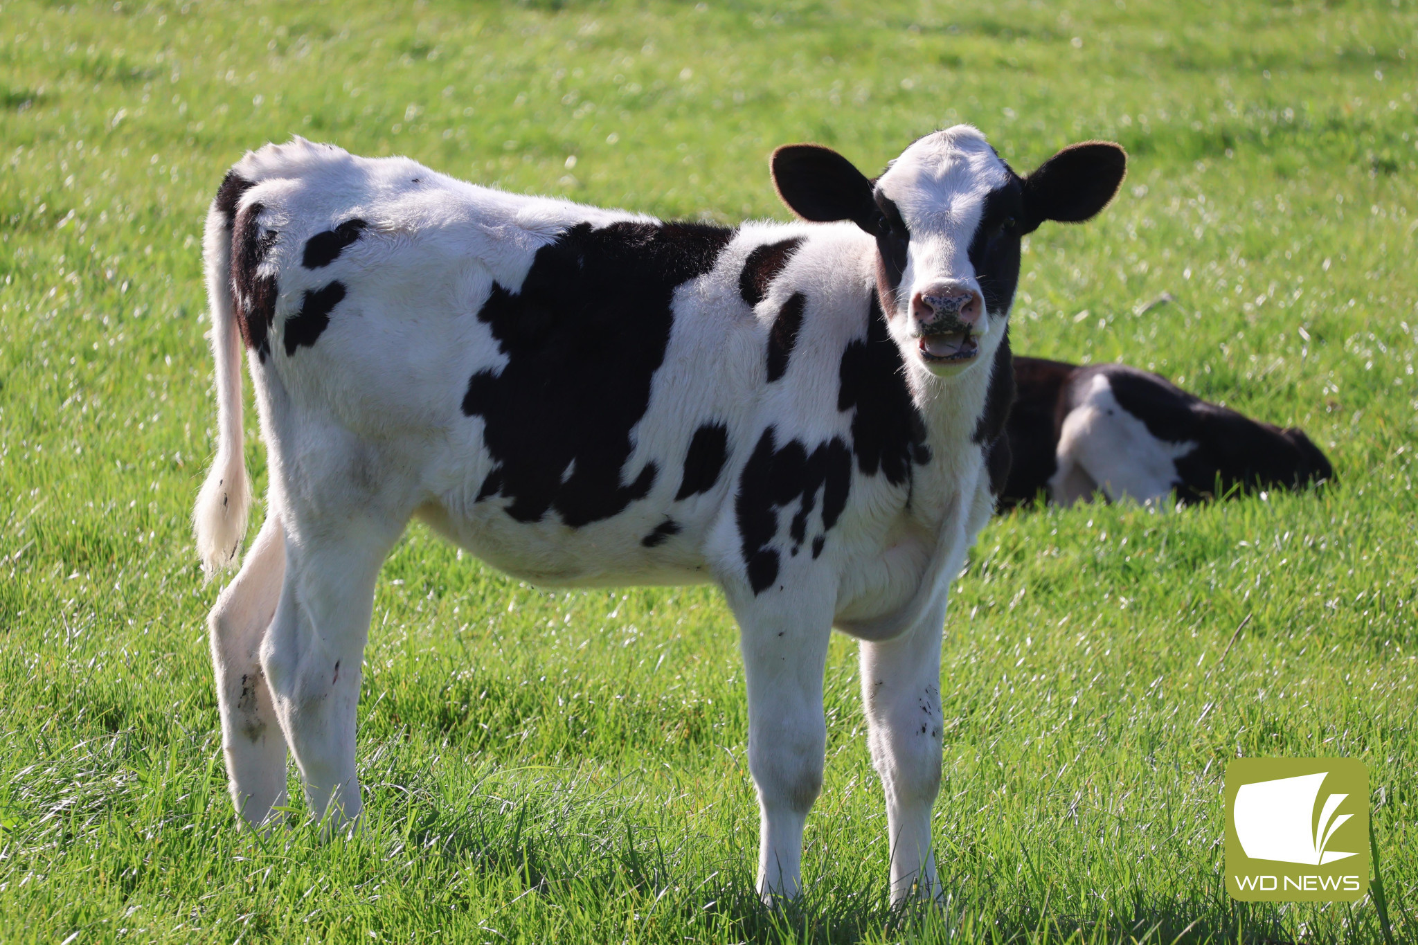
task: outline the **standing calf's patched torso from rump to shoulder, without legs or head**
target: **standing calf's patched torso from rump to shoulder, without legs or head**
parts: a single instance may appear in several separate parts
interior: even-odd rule
[[[306,142],[234,173],[238,316],[311,502],[359,466],[519,577],[685,582],[740,554],[766,429],[851,442],[845,228],[662,222]]]

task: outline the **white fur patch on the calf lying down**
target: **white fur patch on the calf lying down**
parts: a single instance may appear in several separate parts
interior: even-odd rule
[[[1194,441],[1174,443],[1153,436],[1117,402],[1107,378],[1095,374],[1083,401],[1059,429],[1049,496],[1072,506],[1102,492],[1112,502],[1132,499],[1167,509],[1161,500],[1180,482],[1176,460],[1195,448]]]

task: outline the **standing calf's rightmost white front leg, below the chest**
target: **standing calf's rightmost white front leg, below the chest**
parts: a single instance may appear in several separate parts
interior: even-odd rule
[[[942,595],[944,596],[944,595]],[[940,639],[944,602],[896,639],[864,642],[862,703],[872,764],[886,792],[891,898],[940,897],[930,809],[940,791]]]

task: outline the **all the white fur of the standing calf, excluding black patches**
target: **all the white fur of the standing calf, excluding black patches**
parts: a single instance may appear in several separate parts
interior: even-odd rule
[[[803,826],[822,776],[830,632],[835,625],[861,638],[869,742],[886,786],[892,898],[940,895],[930,808],[940,781],[942,623],[950,579],[993,503],[971,434],[1008,313],[987,313],[977,363],[953,377],[933,374],[905,334],[903,313],[889,313],[932,460],[909,487],[864,476],[854,462],[847,509],[821,557],[784,551],[777,587],[754,594],[735,516],[739,476],[767,425],[778,442],[798,438],[810,449],[831,436],[851,443],[851,412],[837,409],[838,371],[844,347],[866,330],[869,237],[851,224],[742,227],[713,271],[675,293],[665,360],[623,470],[630,482],[657,460],[649,494],[580,528],[554,513],[523,524],[505,514],[505,500],[475,502],[493,459],[484,421],[465,417],[461,398],[474,373],[506,364],[476,313],[493,281],[519,286],[536,249],[570,225],[645,218],[505,194],[407,159],[360,159],[299,139],[247,154],[235,170],[254,181],[244,205],[259,201],[262,225],[281,232],[267,262],[279,275],[271,354],[250,360],[269,453],[269,513],[211,615],[227,768],[242,816],[262,823],[284,802],[286,745],[315,816],[359,815],[354,706],[373,584],[410,517],[420,516],[529,581],[713,581],[725,589],[743,632],[764,897],[800,888]],[[974,279],[970,232],[984,194],[1004,176],[968,128],[922,139],[893,163],[881,186],[912,227],[903,285]],[[217,215],[208,218],[206,255],[221,432],[196,514],[208,565],[230,557],[245,517],[237,334]],[[302,268],[312,234],[356,215],[369,222],[359,241],[323,269]],[[743,261],[787,237],[804,242],[750,310],[737,289]],[[329,327],[288,356],[284,319],[306,290],[335,278],[349,290]],[[807,316],[787,373],[769,384],[767,332],[794,292],[805,293]],[[675,502],[679,462],[706,418],[729,428],[729,463],[708,493]],[[642,536],[671,511],[681,534],[644,547]],[[820,513],[821,503],[814,523]],[[786,548],[790,514],[778,519],[774,547]]]

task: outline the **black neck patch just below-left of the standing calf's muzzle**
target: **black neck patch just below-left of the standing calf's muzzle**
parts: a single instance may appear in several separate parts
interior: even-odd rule
[[[910,479],[912,463],[930,462],[926,424],[906,388],[900,349],[886,332],[876,293],[866,316],[866,339],[842,351],[837,409],[852,415],[852,453],[862,475],[881,472],[899,486]]]

